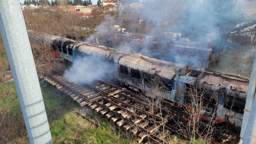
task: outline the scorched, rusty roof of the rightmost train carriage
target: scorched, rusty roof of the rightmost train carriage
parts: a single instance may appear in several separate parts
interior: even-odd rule
[[[241,99],[245,99],[247,95],[249,78],[228,75],[224,73],[211,72],[207,70],[182,68],[175,81],[182,81],[187,84],[196,85],[196,83],[205,88],[226,92],[228,95],[235,95]]]

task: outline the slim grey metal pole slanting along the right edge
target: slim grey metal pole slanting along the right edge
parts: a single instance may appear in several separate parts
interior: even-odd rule
[[[248,118],[252,109],[252,103],[255,95],[255,90],[256,90],[256,51],[254,52],[254,58],[253,58],[253,63],[252,63],[252,71],[251,71],[251,76],[250,76],[250,82],[249,82],[249,87],[247,91],[247,98],[246,98],[246,103],[244,107],[244,117],[243,117],[243,123],[242,123],[242,128],[241,128],[241,133],[240,133],[240,142],[241,143],[244,139],[244,133],[245,129],[248,123]],[[252,111],[254,113],[254,111]]]

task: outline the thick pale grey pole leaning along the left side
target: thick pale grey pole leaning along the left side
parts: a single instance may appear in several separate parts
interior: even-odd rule
[[[25,21],[18,0],[0,0],[0,28],[31,144],[52,144]]]

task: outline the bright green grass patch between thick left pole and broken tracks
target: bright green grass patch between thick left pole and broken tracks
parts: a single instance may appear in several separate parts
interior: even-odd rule
[[[92,143],[114,144],[132,143],[121,132],[117,132],[108,122],[100,123],[99,127],[78,116],[74,111],[64,115],[50,125],[54,143]]]

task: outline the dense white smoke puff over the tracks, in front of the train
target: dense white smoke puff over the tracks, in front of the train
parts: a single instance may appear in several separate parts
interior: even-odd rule
[[[64,77],[76,84],[92,83],[95,80],[108,80],[108,74],[113,72],[111,65],[98,57],[87,56],[78,58],[65,71]]]

